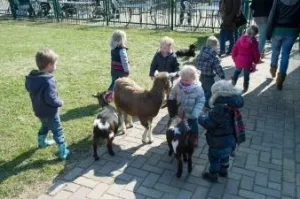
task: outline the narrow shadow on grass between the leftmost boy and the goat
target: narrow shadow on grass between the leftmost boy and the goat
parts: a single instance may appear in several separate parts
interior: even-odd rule
[[[99,111],[98,104],[90,104],[87,106],[77,107],[68,110],[66,113],[61,115],[61,121],[66,122],[69,120],[79,119],[95,115]]]

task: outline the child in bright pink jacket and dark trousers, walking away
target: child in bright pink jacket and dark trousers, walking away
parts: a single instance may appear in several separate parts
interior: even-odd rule
[[[250,72],[255,71],[255,65],[259,62],[260,54],[258,50],[258,43],[255,36],[258,33],[256,25],[251,25],[244,35],[242,35],[232,49],[232,59],[235,63],[236,69],[232,77],[232,84],[236,82],[244,70],[244,90],[247,92],[249,88]]]

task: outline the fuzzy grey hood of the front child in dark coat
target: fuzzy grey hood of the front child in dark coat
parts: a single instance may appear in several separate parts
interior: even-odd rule
[[[242,104],[240,105],[240,100],[234,100],[231,99],[232,97],[241,96],[242,91],[236,87],[234,87],[231,83],[231,81],[228,80],[219,80],[211,87],[212,96],[209,100],[209,106],[212,108],[214,107],[214,104],[216,103],[224,103],[228,106],[240,108],[239,106],[243,106],[243,100]],[[242,97],[241,97],[242,98]]]

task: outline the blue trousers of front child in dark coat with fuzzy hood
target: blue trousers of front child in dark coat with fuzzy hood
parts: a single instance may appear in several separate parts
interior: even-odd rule
[[[232,152],[231,147],[210,148],[208,149],[208,160],[210,163],[210,173],[218,173],[220,169],[228,169],[229,156]]]

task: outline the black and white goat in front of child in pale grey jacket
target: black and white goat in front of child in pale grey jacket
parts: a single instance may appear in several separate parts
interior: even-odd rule
[[[176,176],[180,178],[182,174],[182,157],[184,162],[188,162],[188,172],[192,172],[194,142],[187,121],[181,120],[181,118],[177,116],[178,105],[176,100],[168,100],[167,106],[170,116],[166,132],[169,156],[175,153],[177,159]]]

